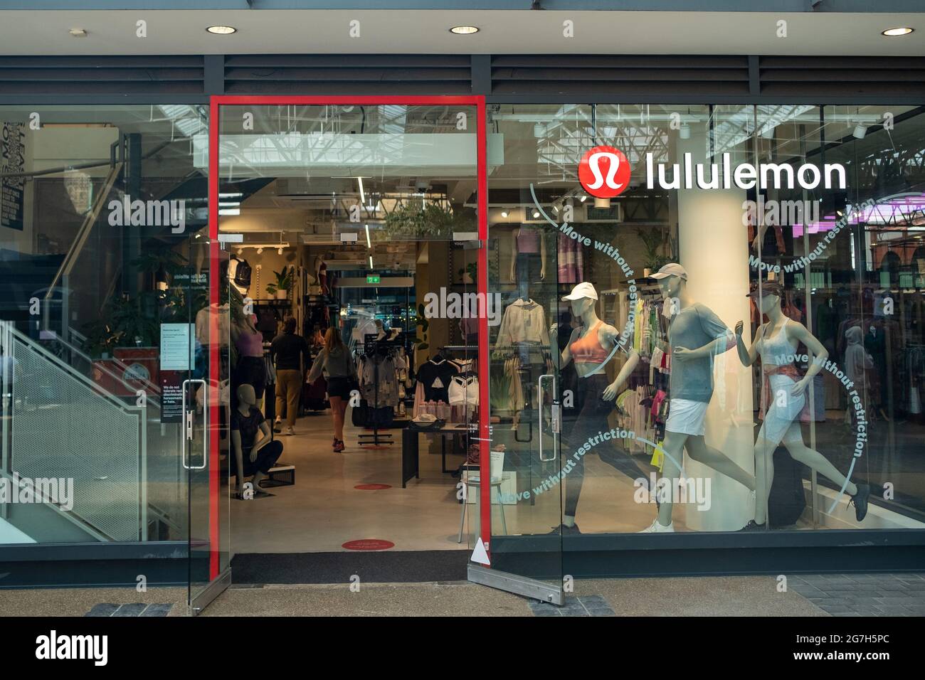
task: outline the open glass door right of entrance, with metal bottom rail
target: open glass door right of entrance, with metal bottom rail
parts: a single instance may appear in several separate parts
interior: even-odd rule
[[[481,510],[490,550],[475,550],[469,577],[562,604],[562,532],[569,529],[562,524],[558,336],[572,329],[567,321],[559,328],[554,214],[532,189],[508,193],[512,204],[487,210],[485,284],[498,309],[486,323],[491,472],[483,475]]]

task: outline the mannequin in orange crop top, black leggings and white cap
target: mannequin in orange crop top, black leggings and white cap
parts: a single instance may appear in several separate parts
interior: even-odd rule
[[[639,354],[630,352],[620,374],[610,384],[603,373],[603,368],[611,359],[617,348],[620,331],[605,324],[598,318],[595,303],[598,291],[590,283],[579,283],[572,292],[562,298],[572,305],[573,318],[580,319],[581,326],[574,328],[569,341],[565,344],[561,356],[553,352],[553,361],[560,369],[574,361],[578,374],[578,389],[575,390],[575,412],[573,418],[567,419],[564,431],[569,449],[566,455],[572,455],[588,438],[600,431],[610,429],[607,416],[613,409],[620,386],[632,375],[639,363]],[[550,328],[549,336],[555,338],[558,324]],[[631,345],[632,346],[632,343]],[[603,460],[603,458],[602,458]],[[562,532],[581,533],[575,524],[575,512],[578,499],[585,484],[585,456],[579,456],[571,473],[565,478],[565,506],[562,511]],[[558,531],[558,529],[557,529]]]

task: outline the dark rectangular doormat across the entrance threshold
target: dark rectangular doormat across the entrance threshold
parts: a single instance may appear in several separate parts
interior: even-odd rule
[[[464,581],[469,550],[384,552],[246,552],[231,561],[231,582],[362,583]]]

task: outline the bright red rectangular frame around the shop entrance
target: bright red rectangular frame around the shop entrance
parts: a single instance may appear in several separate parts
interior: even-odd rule
[[[209,267],[209,302],[217,304],[219,300],[219,262],[221,253],[218,247],[218,121],[219,107],[222,105],[458,105],[475,106],[476,108],[476,172],[478,191],[478,239],[481,247],[478,251],[478,280],[476,283],[478,297],[485,301],[485,307],[480,306],[478,319],[478,373],[482,378],[478,381],[479,403],[478,410],[479,431],[479,468],[484,471],[479,476],[480,492],[479,513],[481,514],[481,539],[486,550],[489,548],[491,538],[491,454],[488,445],[488,167],[487,167],[487,118],[485,112],[485,97],[474,96],[237,96],[216,95],[210,98],[209,103],[209,239],[210,239],[210,267]],[[485,310],[485,313],[481,313]],[[212,315],[212,328],[209,333],[209,374],[210,384],[217,387],[219,376],[218,360],[218,319]],[[221,480],[219,479],[219,421],[218,404],[214,400],[209,406],[209,423],[211,437],[209,439],[209,580],[214,580],[219,573],[219,496],[221,493]],[[485,502],[487,499],[488,502]]]

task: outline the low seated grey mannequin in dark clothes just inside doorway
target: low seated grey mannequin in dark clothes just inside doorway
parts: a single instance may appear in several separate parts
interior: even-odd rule
[[[232,455],[229,466],[231,474],[238,480],[235,495],[239,499],[242,498],[245,476],[253,475],[254,498],[267,495],[261,490],[260,482],[283,452],[283,444],[273,440],[264,414],[253,407],[256,401],[253,386],[245,383],[238,388],[238,405],[231,409]]]

